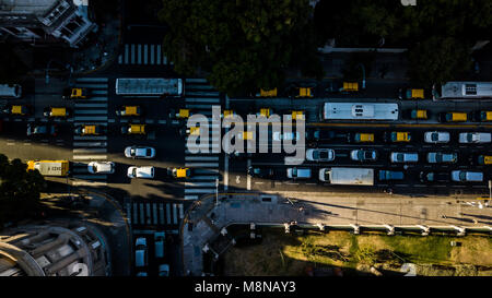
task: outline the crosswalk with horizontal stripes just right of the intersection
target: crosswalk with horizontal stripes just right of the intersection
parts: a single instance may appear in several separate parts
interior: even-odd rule
[[[185,107],[189,108],[192,114],[210,117],[212,105],[221,104],[219,92],[214,91],[206,79],[186,79],[185,82]],[[212,127],[211,122],[210,127]],[[214,138],[219,136],[209,135],[210,141]],[[214,154],[211,151],[208,154],[191,154],[189,148],[185,148],[185,167],[191,168],[192,171],[191,177],[185,181],[185,200],[198,200],[203,194],[215,192],[215,180],[220,179],[219,163],[220,154]],[[179,214],[181,214],[181,211],[179,211]]]

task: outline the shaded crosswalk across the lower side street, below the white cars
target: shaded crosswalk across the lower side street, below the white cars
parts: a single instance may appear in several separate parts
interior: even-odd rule
[[[183,203],[133,200],[126,203],[126,212],[132,228],[177,229],[185,217]]]

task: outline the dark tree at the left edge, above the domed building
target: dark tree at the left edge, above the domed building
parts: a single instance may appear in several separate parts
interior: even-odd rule
[[[9,162],[0,154],[0,228],[9,222],[32,218],[40,210],[45,179],[37,170],[26,169],[21,159]]]

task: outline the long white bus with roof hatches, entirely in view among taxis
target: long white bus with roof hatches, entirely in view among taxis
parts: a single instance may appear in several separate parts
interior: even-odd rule
[[[325,103],[323,120],[398,120],[398,104]]]

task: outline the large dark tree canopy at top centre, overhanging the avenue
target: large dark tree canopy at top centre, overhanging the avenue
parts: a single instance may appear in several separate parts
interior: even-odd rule
[[[281,85],[289,67],[321,76],[308,0],[166,0],[163,49],[184,75],[230,95]]]

